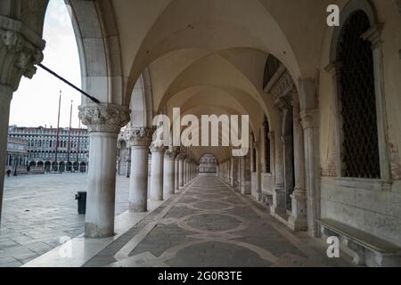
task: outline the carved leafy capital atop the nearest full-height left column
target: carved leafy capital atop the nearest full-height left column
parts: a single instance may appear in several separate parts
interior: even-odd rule
[[[88,127],[89,133],[119,134],[121,127],[129,122],[130,111],[125,106],[87,104],[78,109],[79,118]]]

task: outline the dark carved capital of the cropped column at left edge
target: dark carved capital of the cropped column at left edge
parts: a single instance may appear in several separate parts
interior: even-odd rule
[[[0,84],[16,90],[22,76],[32,78],[37,71],[35,64],[43,61],[44,47],[30,43],[15,27],[0,28]]]

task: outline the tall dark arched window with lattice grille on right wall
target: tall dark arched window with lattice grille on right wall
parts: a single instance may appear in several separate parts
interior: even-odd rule
[[[345,22],[337,58],[342,125],[341,171],[345,177],[381,177],[372,44],[361,36],[370,28],[357,11]]]

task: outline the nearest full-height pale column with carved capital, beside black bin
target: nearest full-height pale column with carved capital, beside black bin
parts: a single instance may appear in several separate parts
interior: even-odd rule
[[[117,138],[129,122],[129,110],[114,104],[79,106],[79,118],[90,138],[86,194],[85,235],[91,238],[114,234]]]

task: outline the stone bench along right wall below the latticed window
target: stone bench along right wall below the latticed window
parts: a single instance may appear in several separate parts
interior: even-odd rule
[[[397,245],[331,219],[321,219],[317,222],[321,225],[325,236],[340,238],[341,242],[356,254],[354,257],[356,265],[369,267],[401,265],[401,248]]]

